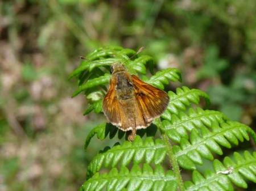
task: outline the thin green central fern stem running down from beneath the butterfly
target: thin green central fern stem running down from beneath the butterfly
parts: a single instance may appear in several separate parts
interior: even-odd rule
[[[181,173],[180,173],[179,164],[177,163],[177,159],[176,159],[175,154],[172,150],[172,143],[169,141],[167,135],[164,134],[164,132],[162,131],[163,126],[162,126],[162,122],[160,121],[160,119],[155,120],[155,124],[157,124],[157,126],[161,130],[163,141],[164,141],[164,143],[167,147],[167,154],[169,156],[172,168],[174,169],[174,175],[177,179],[177,185],[178,185],[179,191],[185,191],[185,187],[184,187],[183,180],[182,180]]]

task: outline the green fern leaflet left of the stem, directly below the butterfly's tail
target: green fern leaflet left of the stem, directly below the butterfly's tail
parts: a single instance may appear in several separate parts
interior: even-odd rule
[[[87,176],[92,176],[104,167],[116,167],[117,164],[127,166],[131,162],[159,164],[166,158],[166,146],[162,139],[147,137],[144,141],[136,136],[134,142],[125,141],[122,145],[114,146],[98,154],[88,165]]]

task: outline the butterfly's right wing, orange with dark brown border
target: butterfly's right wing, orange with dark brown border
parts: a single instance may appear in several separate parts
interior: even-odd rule
[[[169,97],[166,92],[151,86],[132,75],[135,97],[141,110],[144,121],[149,125],[155,118],[167,108]]]

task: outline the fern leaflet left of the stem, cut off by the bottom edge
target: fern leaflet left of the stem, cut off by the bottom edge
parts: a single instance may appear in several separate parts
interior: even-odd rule
[[[143,168],[135,164],[131,171],[126,167],[121,167],[119,172],[117,168],[113,168],[109,173],[102,175],[96,173],[81,186],[80,190],[118,191],[124,188],[128,191],[176,191],[177,183],[174,173],[164,172],[160,165],[155,165],[155,169],[152,169],[148,164],[144,164]]]

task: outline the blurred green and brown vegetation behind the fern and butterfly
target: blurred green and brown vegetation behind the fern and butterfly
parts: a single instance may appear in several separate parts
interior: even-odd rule
[[[86,100],[71,99],[68,75],[102,45],[146,46],[155,67],[181,70],[170,90],[207,91],[212,109],[255,130],[255,9],[253,0],[1,1],[0,190],[84,182],[102,148],[94,139],[84,152],[84,139],[105,117],[82,116]]]

